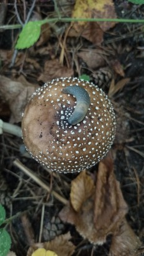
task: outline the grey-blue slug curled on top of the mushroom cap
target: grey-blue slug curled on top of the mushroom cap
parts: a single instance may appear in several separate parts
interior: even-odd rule
[[[72,125],[78,124],[78,122],[81,122],[86,116],[91,102],[88,92],[81,86],[74,85],[63,88],[62,93],[72,94],[76,97],[76,107],[73,114],[68,119],[68,123]]]

